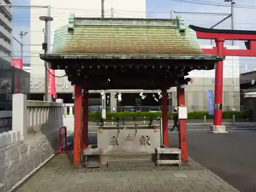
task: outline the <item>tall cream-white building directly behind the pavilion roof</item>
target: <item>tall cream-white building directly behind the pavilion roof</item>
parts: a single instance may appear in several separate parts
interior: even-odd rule
[[[1,1],[1,0],[0,0]],[[31,5],[50,5],[51,6],[51,45],[53,44],[54,31],[68,24],[69,14],[81,17],[101,17],[101,0],[31,0]],[[105,17],[146,17],[146,0],[104,0],[104,16]],[[44,41],[45,23],[39,20],[39,16],[47,15],[47,8],[31,8],[30,11],[30,37],[31,44],[40,45]],[[32,87],[36,87],[36,83],[44,87],[45,67],[44,61],[39,58],[39,53],[42,53],[41,46],[31,46],[31,81]],[[65,72],[56,71],[55,75],[62,75]],[[63,84],[65,83],[65,85]],[[67,85],[66,78],[57,78],[57,92],[72,92],[73,88]],[[65,87],[65,89],[62,87]],[[37,86],[38,87],[38,86]],[[38,92],[41,89],[31,90]],[[43,92],[43,91],[42,91]]]

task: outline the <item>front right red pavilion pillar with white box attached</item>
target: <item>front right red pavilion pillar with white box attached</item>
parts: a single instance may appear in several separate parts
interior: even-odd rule
[[[184,105],[185,106],[185,91],[177,87],[177,98],[178,98],[178,106]],[[181,160],[183,163],[188,162],[187,157],[187,125],[186,119],[179,119],[179,145],[181,150]]]

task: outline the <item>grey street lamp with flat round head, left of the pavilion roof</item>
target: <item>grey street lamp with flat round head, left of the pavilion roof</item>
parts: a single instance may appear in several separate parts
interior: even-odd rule
[[[40,16],[40,20],[44,20],[45,22],[45,30],[42,31],[45,34],[45,42],[42,43],[42,50],[45,50],[45,54],[49,53],[48,51],[48,37],[49,37],[49,30],[48,30],[48,22],[52,22],[53,18],[50,16]],[[48,63],[45,61],[45,101],[48,101],[48,95],[47,95],[47,74],[48,74]]]

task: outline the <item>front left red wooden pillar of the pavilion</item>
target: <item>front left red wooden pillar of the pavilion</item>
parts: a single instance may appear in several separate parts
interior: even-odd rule
[[[81,127],[82,127],[82,86],[75,88],[75,104],[74,104],[74,164],[80,164],[81,157]]]

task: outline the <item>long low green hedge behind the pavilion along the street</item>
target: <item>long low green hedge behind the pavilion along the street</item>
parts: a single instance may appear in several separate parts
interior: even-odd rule
[[[238,112],[238,111],[224,111],[222,112],[223,119],[232,119],[233,115],[236,119],[245,119],[251,117],[250,111]],[[161,117],[161,112],[117,112],[117,113],[106,113],[106,118],[116,118],[116,117]],[[207,111],[195,111],[188,112],[188,119],[213,119],[214,115],[208,115]],[[99,120],[101,118],[101,113],[89,113],[90,120]],[[168,119],[173,119],[173,113],[168,113]]]

